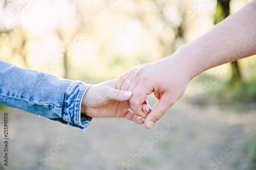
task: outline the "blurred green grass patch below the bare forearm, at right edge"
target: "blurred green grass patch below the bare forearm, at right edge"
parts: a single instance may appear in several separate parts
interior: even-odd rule
[[[224,110],[243,113],[256,109],[255,87],[255,78],[236,84],[229,81],[219,81],[218,84],[212,86],[206,93],[195,95],[188,99],[188,101],[201,106],[218,105]]]

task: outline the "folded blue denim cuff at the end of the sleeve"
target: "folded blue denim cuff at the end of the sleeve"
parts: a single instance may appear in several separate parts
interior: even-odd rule
[[[68,123],[68,126],[86,131],[91,125],[92,117],[81,116],[82,98],[91,86],[81,81],[74,81],[68,86],[65,93],[63,113],[63,120]]]

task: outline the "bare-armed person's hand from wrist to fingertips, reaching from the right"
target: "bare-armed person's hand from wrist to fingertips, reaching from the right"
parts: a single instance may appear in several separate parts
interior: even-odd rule
[[[133,91],[130,99],[131,109],[135,115],[145,118],[147,129],[150,129],[181,98],[190,81],[186,62],[179,57],[179,53],[176,53],[173,57],[126,71],[116,82],[116,89]],[[130,87],[125,83],[126,79],[132,82]],[[152,92],[159,101],[152,112],[145,115],[141,111],[142,104]]]

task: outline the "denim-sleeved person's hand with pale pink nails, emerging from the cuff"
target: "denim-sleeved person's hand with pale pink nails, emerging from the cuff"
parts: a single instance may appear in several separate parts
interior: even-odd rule
[[[115,82],[111,80],[91,86],[83,96],[81,113],[90,117],[124,117],[143,124],[143,118],[130,110],[128,101],[132,92],[115,89]]]

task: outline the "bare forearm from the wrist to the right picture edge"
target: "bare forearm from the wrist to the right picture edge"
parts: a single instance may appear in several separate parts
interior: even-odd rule
[[[256,54],[255,11],[254,0],[178,50],[191,79],[209,68]]]

